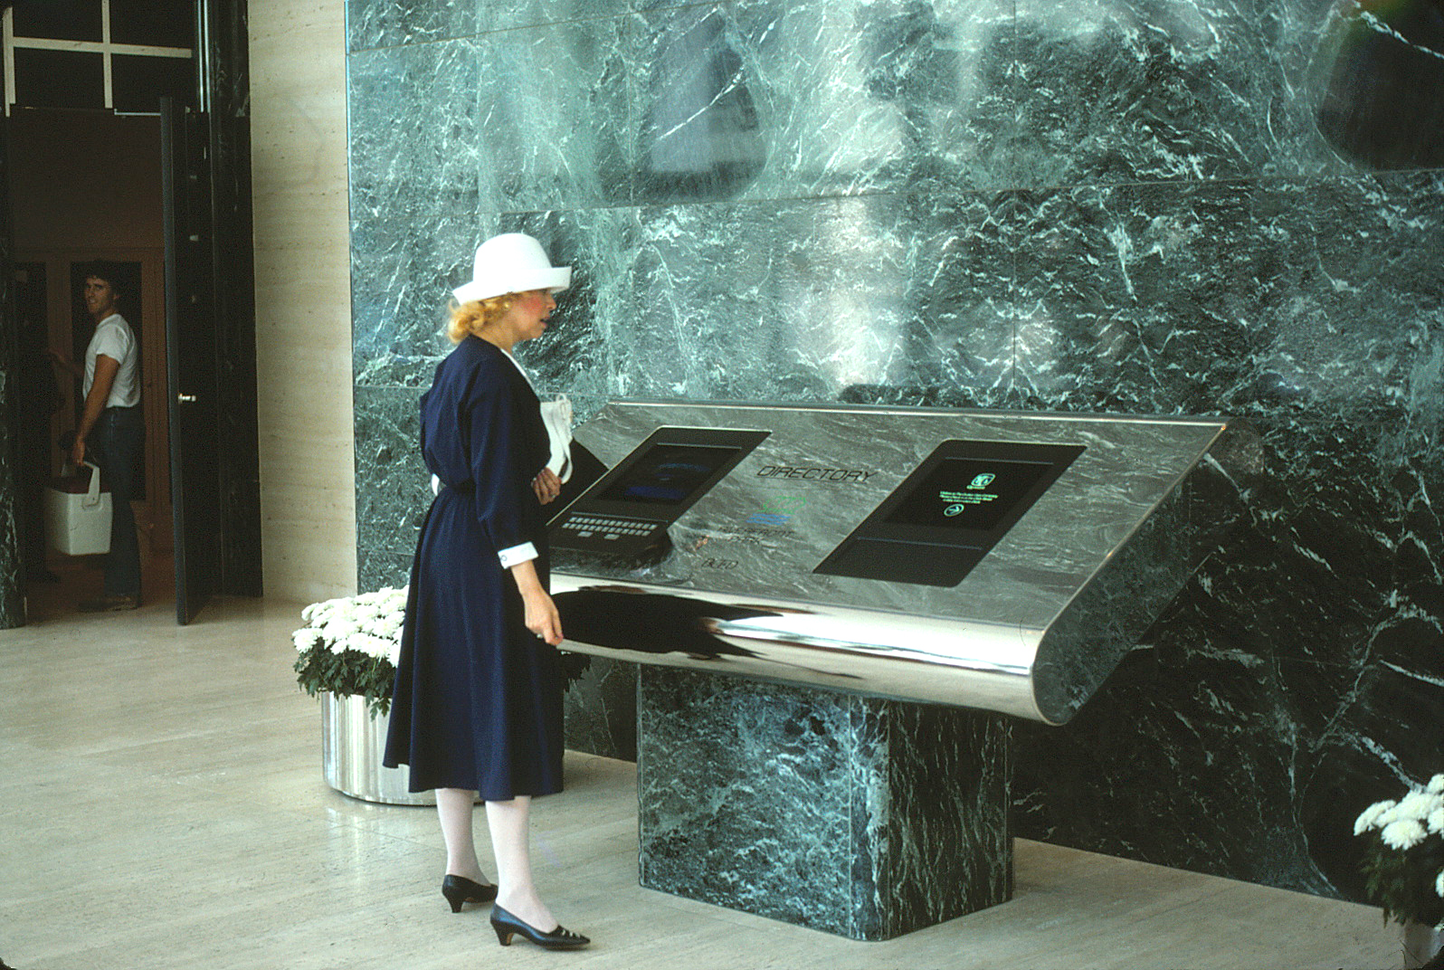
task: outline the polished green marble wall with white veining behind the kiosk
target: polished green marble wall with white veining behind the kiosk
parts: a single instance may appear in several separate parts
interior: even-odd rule
[[[583,419],[1243,416],[1249,518],[1015,729],[1015,831],[1357,896],[1353,816],[1444,768],[1444,82],[1431,4],[1404,40],[1333,9],[351,0],[362,586],[404,580],[416,397],[501,230],[576,267],[526,362]]]

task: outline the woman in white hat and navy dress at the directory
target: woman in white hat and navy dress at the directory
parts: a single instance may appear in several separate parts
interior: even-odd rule
[[[560,491],[540,403],[511,348],[546,331],[570,283],[517,232],[477,250],[453,293],[456,344],[422,396],[422,455],[439,479],[422,524],[401,631],[384,764],[410,766],[410,790],[436,790],[446,842],[442,895],[461,912],[495,899],[503,945],[586,945],[542,902],[531,878],[530,807],[562,790],[562,622],[547,593],[546,517]],[[497,885],[472,840],[487,805]]]

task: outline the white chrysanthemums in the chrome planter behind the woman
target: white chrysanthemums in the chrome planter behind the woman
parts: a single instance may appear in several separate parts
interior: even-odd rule
[[[373,717],[388,715],[401,655],[406,586],[312,603],[300,611],[300,618],[306,625],[292,634],[300,654],[296,658],[300,689],[312,697],[323,690],[360,694]],[[591,657],[562,651],[565,686],[570,687],[589,664]]]

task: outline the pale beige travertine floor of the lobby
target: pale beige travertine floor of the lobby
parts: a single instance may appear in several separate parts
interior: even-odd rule
[[[1389,967],[1376,909],[1019,842],[1017,898],[855,943],[637,885],[635,771],[569,755],[537,878],[585,953],[452,915],[432,808],[321,778],[299,605],[169,605],[0,632],[0,956],[20,970]],[[478,813],[482,863],[490,846]]]

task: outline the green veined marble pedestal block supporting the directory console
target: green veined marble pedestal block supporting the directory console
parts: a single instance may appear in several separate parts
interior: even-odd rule
[[[641,885],[853,940],[1005,902],[999,715],[644,667]]]

